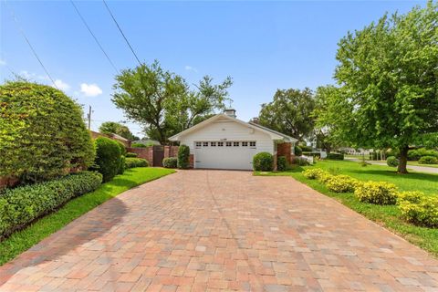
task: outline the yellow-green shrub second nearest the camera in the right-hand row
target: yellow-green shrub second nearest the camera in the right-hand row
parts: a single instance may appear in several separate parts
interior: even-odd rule
[[[397,188],[392,183],[361,183],[354,194],[360,202],[376,204],[394,204],[397,201]]]

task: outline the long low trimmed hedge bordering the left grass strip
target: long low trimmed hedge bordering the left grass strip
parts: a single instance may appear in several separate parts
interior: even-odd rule
[[[100,183],[100,173],[78,172],[44,183],[5,190],[0,194],[0,240],[70,199],[96,190]]]

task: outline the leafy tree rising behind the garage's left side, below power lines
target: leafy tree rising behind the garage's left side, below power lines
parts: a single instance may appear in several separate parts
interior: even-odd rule
[[[172,135],[224,109],[231,78],[214,85],[204,77],[191,89],[181,76],[163,70],[155,61],[123,70],[116,76],[112,101],[130,120],[141,123],[152,140],[165,144]]]

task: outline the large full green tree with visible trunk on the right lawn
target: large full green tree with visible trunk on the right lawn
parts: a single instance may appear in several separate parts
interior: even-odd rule
[[[343,141],[399,149],[401,173],[410,145],[438,132],[437,8],[429,2],[406,15],[383,16],[343,37],[339,89],[318,117]]]

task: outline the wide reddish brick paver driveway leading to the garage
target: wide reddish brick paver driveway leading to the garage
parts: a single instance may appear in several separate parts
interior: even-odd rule
[[[438,291],[438,261],[289,177],[187,171],[0,268],[2,291]]]

